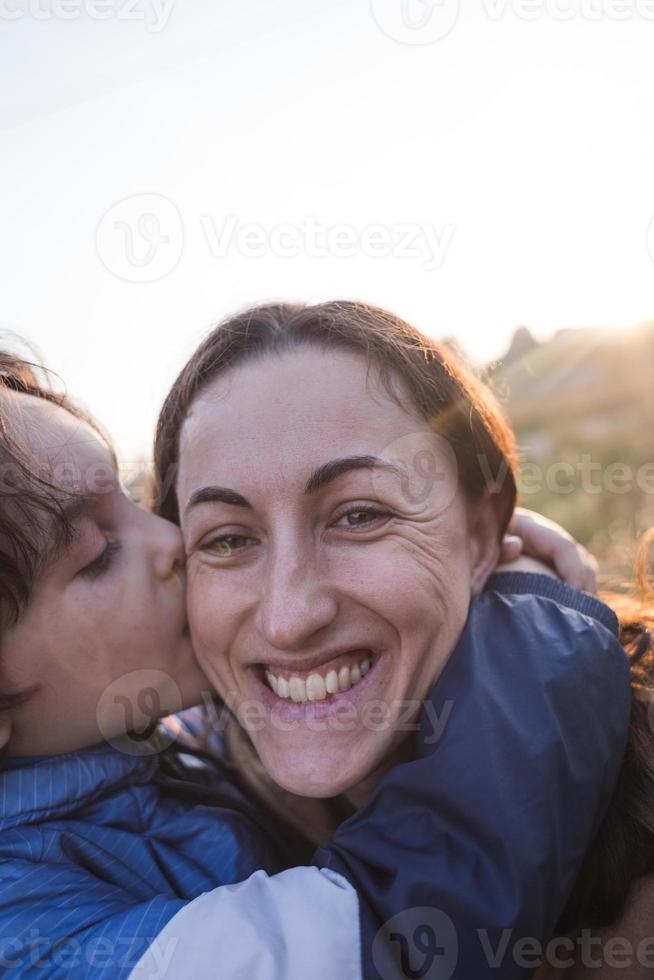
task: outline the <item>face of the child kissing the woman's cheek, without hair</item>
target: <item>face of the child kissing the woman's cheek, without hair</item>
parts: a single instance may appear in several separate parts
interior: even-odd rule
[[[8,753],[72,751],[198,703],[207,682],[187,630],[178,528],[125,495],[87,425],[35,397],[2,398],[39,471],[79,495],[70,546],[50,556],[0,637],[0,693],[27,695],[3,712]]]

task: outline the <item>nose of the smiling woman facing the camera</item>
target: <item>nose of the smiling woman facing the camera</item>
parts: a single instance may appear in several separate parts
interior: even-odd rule
[[[310,562],[286,557],[266,577],[258,609],[258,628],[277,650],[300,650],[314,633],[332,622],[337,603],[324,576]]]

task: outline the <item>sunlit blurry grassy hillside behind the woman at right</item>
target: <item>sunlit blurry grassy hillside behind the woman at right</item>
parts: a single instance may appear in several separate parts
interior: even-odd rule
[[[654,524],[654,323],[542,343],[520,327],[486,378],[517,434],[521,503],[626,574],[635,537]]]

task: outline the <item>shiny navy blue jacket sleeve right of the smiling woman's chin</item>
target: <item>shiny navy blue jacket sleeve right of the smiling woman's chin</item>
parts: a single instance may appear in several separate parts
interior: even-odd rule
[[[540,964],[626,744],[617,629],[540,575],[496,574],[472,604],[416,761],[316,855],[358,891],[366,978],[513,980]]]

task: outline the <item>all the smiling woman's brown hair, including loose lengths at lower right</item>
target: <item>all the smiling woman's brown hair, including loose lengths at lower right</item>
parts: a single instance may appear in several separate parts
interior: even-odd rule
[[[307,346],[364,355],[396,400],[394,382],[402,381],[413,407],[433,431],[449,440],[461,485],[470,499],[480,499],[488,491],[496,495],[504,531],[516,503],[517,456],[513,433],[493,395],[447,347],[390,313],[354,302],[255,307],[227,319],[209,334],[179,374],[159,418],[155,484],[156,506],[162,516],[179,521],[175,492],[179,436],[195,398],[233,367]],[[561,921],[566,931],[614,921],[635,879],[654,870],[654,734],[650,726],[654,654],[649,634],[654,628],[654,606],[642,555],[641,551],[640,598],[603,596],[620,617],[621,639],[631,658],[632,723],[615,796]],[[241,757],[247,758],[242,733],[237,733],[236,745]],[[270,786],[266,789],[270,793]]]

